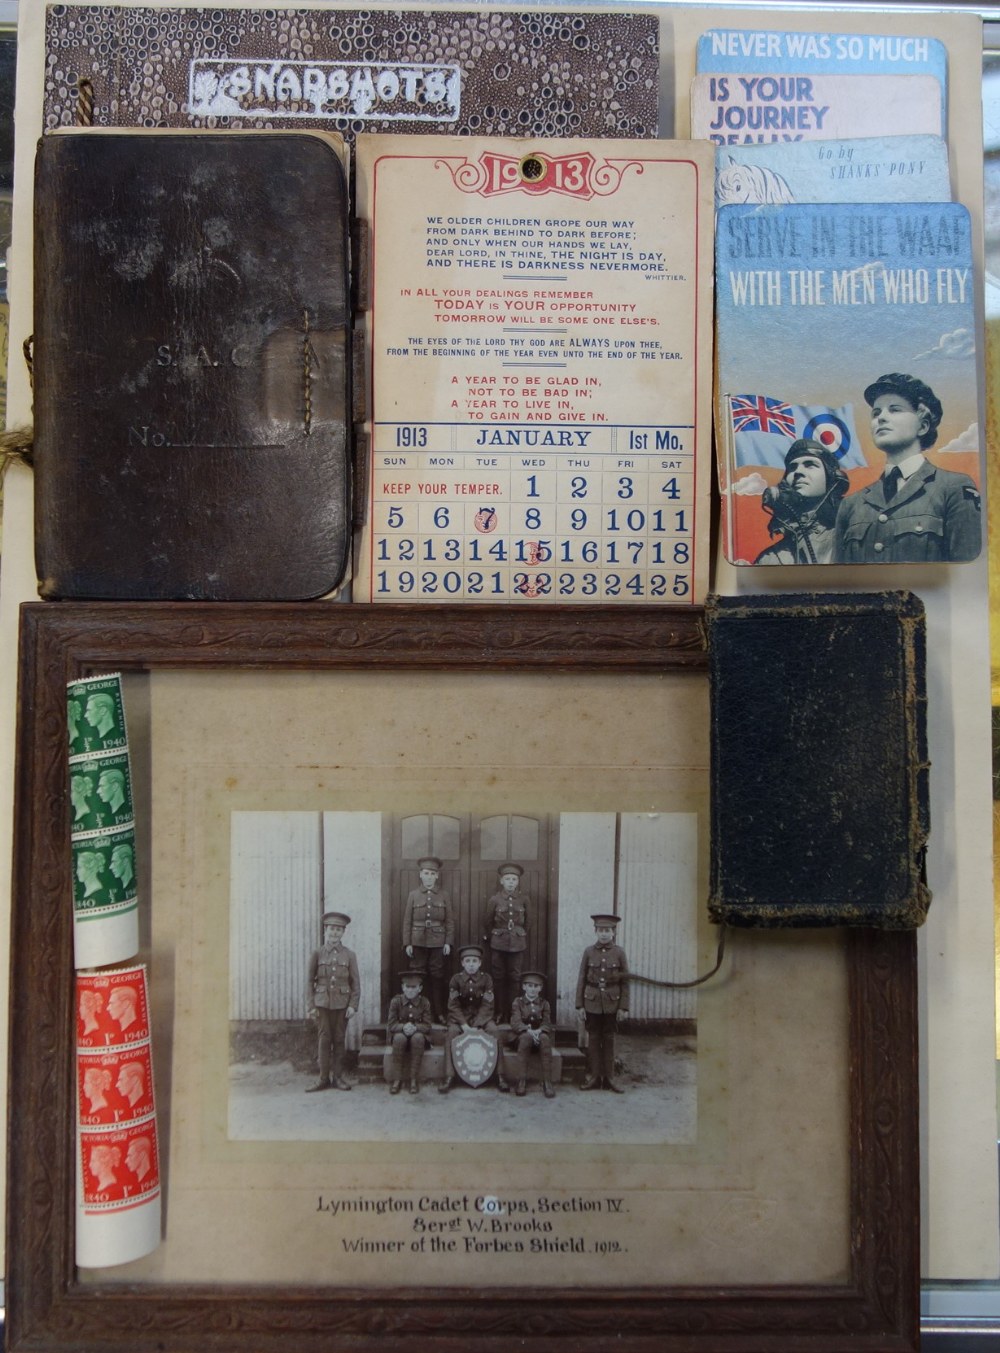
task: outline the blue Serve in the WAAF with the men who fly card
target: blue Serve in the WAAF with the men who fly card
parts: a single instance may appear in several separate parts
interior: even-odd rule
[[[974,559],[981,437],[966,208],[731,206],[716,248],[727,557]]]

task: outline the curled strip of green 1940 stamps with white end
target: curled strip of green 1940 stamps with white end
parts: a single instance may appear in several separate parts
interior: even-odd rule
[[[66,686],[76,967],[131,958],[139,947],[135,812],[122,678]]]

